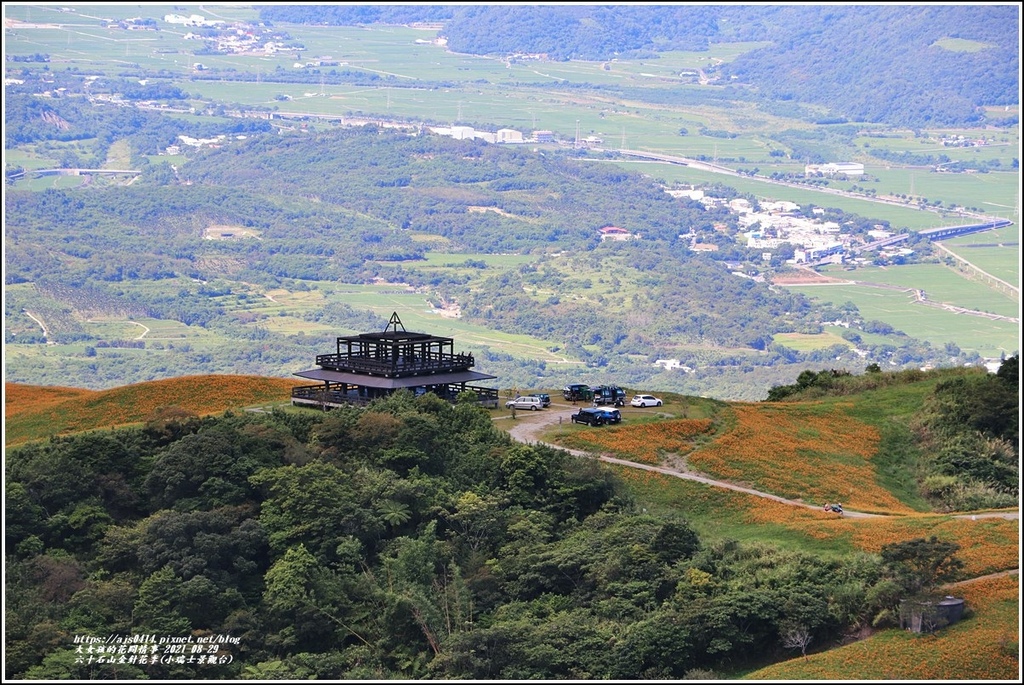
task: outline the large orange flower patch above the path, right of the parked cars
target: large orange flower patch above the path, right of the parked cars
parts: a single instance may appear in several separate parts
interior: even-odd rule
[[[815,404],[734,404],[735,425],[694,451],[690,465],[715,478],[809,504],[910,513],[882,487],[871,458],[873,426]]]

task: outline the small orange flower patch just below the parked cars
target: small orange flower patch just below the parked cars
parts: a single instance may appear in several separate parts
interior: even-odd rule
[[[614,453],[641,464],[658,464],[666,455],[685,455],[693,449],[694,438],[711,428],[711,419],[674,419],[572,433],[561,441],[575,449]]]

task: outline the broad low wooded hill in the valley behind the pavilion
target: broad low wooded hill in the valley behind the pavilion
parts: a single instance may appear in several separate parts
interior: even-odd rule
[[[60,112],[71,117],[66,134],[89,135],[94,119]],[[152,131],[172,135],[172,121]],[[457,302],[466,322],[555,341],[562,353],[607,369],[623,384],[645,383],[656,373],[650,362],[666,357],[709,373],[723,369],[715,369],[720,375],[804,362],[862,366],[840,338],[809,352],[775,340],[820,334],[837,317],[881,330],[852,305],[815,307],[792,291],[730,275],[729,262],[764,268],[762,251],[741,247],[732,236],[734,214],[673,198],[654,179],[599,160],[374,127],[250,131],[244,140],[193,153],[176,168],[142,164],[129,186],[11,190],[5,279],[18,288],[7,297],[7,342],[87,345],[84,357],[65,360],[60,380],[44,382],[81,378],[75,382],[97,389],[119,384],[118,378],[166,377],[171,367],[177,374],[288,374],[308,362],[310,345],[331,339],[323,328],[302,337],[268,330],[265,314],[250,313],[265,299],[262,293],[324,289],[314,300],[319,304],[295,313],[293,326],[367,331],[379,327],[370,312],[325,299],[326,292],[330,284],[386,282],[419,289],[431,302]],[[721,184],[708,191],[740,196]],[[826,218],[850,230],[874,223],[838,210]],[[607,225],[641,240],[601,243],[598,229]],[[691,242],[717,251],[710,257],[691,252]],[[531,255],[531,263],[496,269],[467,259],[453,262],[458,268],[428,268],[428,248]],[[95,317],[178,322],[223,341],[200,351],[171,338],[161,349],[174,362],[155,360],[156,369],[146,369],[144,357],[96,365],[91,357],[98,346],[146,343],[92,333],[86,323]],[[869,361],[959,356],[889,332],[870,341],[848,335]],[[534,363],[515,365],[497,350],[481,358],[511,373],[513,383],[523,382],[517,374],[538,374]],[[8,380],[39,382],[18,373]],[[760,398],[770,380],[760,381],[764,389],[744,380],[742,389],[717,392]]]

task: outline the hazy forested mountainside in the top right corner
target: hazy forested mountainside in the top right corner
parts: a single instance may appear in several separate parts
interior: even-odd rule
[[[773,100],[827,106],[853,121],[970,125],[980,105],[1019,102],[1020,7],[787,5],[755,8],[771,40],[723,76]],[[956,40],[965,48],[956,47]],[[946,42],[944,42],[944,40]]]

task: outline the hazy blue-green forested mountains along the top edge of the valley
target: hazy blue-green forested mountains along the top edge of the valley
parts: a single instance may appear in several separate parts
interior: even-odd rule
[[[979,108],[1018,101],[1019,8],[1011,5],[562,5],[263,7],[300,24],[442,23],[449,48],[552,59],[656,58],[710,43],[770,45],[713,74],[767,109],[823,105],[896,126],[972,125]],[[980,49],[943,47],[943,39]],[[820,115],[819,115],[820,116]]]

